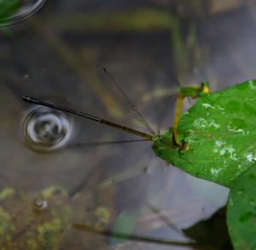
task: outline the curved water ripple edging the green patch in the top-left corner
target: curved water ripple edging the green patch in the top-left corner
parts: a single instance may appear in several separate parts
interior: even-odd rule
[[[7,1],[12,1],[12,4]],[[0,15],[0,27],[13,26],[25,20],[41,9],[45,2],[46,0],[3,0],[3,6],[0,4],[0,7],[5,8],[5,11],[3,13],[0,11],[3,15],[2,18]]]

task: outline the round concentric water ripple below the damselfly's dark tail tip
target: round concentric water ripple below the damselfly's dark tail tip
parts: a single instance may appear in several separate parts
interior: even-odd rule
[[[29,148],[53,151],[67,144],[73,132],[73,122],[61,111],[35,107],[26,113],[22,130]]]

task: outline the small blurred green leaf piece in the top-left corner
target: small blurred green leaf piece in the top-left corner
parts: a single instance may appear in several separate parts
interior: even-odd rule
[[[7,21],[20,7],[20,0],[0,0],[0,24]]]

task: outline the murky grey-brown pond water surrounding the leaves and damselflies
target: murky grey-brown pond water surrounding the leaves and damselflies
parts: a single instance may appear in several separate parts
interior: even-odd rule
[[[38,2],[21,1],[18,14],[36,12]],[[228,189],[167,166],[150,142],[98,143],[137,137],[20,97],[144,130],[112,94],[97,69],[103,66],[163,132],[172,125],[178,81],[207,80],[219,90],[255,78],[254,2],[52,0],[1,27],[1,245],[228,249],[223,211],[200,222],[224,206]],[[139,239],[118,241],[99,230]]]

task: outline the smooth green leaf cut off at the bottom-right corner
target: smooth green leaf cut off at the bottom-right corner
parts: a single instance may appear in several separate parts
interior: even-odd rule
[[[256,164],[231,188],[227,222],[235,249],[256,249]]]

